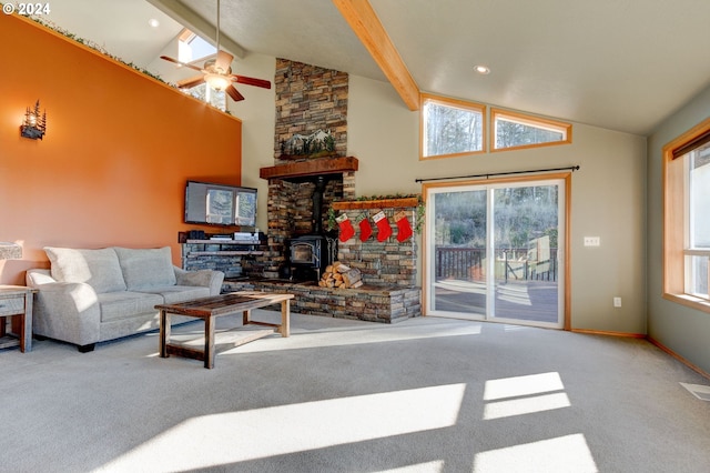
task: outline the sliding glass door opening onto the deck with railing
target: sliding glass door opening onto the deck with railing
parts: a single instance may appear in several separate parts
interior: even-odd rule
[[[426,313],[564,326],[565,179],[426,187]]]

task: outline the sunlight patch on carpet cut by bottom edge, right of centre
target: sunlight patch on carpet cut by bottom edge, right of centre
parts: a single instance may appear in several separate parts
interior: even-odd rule
[[[592,473],[597,464],[585,435],[574,434],[476,454],[474,473]]]

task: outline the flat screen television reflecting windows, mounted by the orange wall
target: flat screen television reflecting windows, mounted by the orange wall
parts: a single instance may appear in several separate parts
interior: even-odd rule
[[[256,227],[256,189],[187,181],[185,223]]]

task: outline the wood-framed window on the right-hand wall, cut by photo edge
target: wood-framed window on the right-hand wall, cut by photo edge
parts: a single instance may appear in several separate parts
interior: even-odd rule
[[[663,295],[710,312],[710,119],[663,147]]]

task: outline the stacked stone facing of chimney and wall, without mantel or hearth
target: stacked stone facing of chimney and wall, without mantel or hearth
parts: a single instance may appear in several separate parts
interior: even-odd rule
[[[277,59],[274,84],[276,90],[275,167],[315,159],[306,155],[282,155],[282,143],[293,138],[294,133],[307,135],[317,130],[329,131],[335,141],[335,152],[317,159],[336,159],[347,155],[347,73]],[[286,262],[286,240],[313,231],[314,189],[315,183],[310,178],[268,180],[268,250],[255,261],[265,276],[278,278],[278,272]],[[327,231],[331,204],[336,201],[355,201],[356,198],[354,171],[329,175],[322,209],[322,228],[328,236],[337,239],[338,235],[337,228],[332,232]],[[397,241],[393,221],[395,209],[384,207],[382,210],[394,227],[394,234],[381,242],[375,238],[375,235],[366,242],[359,241],[357,236],[346,242],[338,242],[337,258],[359,269],[363,282],[366,284],[413,286],[416,284],[416,242],[414,239]],[[408,220],[414,223],[416,208],[408,208],[406,211]],[[375,211],[346,210],[345,212],[356,224],[364,213],[371,215]]]

